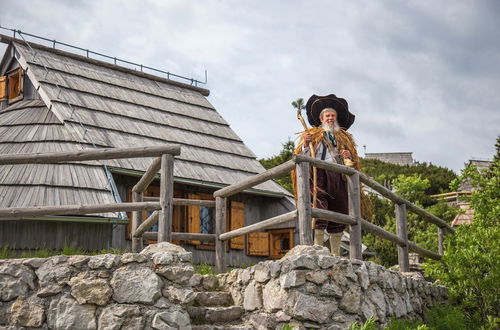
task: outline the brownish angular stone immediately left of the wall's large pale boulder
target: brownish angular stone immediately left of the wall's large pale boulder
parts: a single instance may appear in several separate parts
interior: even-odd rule
[[[68,282],[71,286],[71,295],[79,304],[106,305],[113,295],[108,281],[88,277],[85,273],[80,273],[71,278]]]

